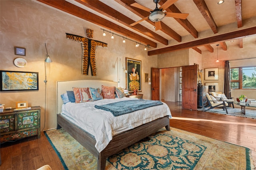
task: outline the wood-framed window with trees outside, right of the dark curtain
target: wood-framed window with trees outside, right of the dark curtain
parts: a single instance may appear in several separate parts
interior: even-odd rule
[[[256,67],[230,69],[231,89],[256,89]]]

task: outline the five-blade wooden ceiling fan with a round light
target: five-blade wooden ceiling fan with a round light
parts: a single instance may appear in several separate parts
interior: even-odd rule
[[[142,18],[141,20],[138,20],[137,22],[134,22],[134,23],[130,24],[130,26],[135,26],[136,24],[138,24],[138,23],[140,23],[140,22],[142,22],[146,19],[149,19],[152,22],[155,22],[156,30],[160,30],[162,28],[160,21],[162,19],[164,19],[165,16],[185,20],[187,18],[188,14],[174,13],[174,12],[163,12],[169,6],[174,4],[176,1],[178,1],[178,0],[167,0],[162,6],[160,6],[160,8],[158,8],[157,4],[160,2],[160,0],[153,0],[153,2],[156,4],[156,8],[154,10],[151,10],[150,8],[142,6],[142,5],[140,5],[136,2],[131,4],[131,6],[134,6],[136,8],[140,8],[141,10],[150,12],[150,15],[145,17],[145,18]]]

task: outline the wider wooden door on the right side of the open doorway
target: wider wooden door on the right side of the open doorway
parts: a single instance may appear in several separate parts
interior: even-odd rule
[[[182,108],[197,110],[198,65],[182,67]]]

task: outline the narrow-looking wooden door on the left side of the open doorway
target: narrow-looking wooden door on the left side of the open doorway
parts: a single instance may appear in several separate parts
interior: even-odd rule
[[[151,100],[160,100],[160,69],[151,68]]]

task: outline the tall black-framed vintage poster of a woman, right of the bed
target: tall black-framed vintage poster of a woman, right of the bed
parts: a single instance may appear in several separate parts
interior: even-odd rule
[[[126,89],[133,92],[141,91],[141,61],[126,57]]]

